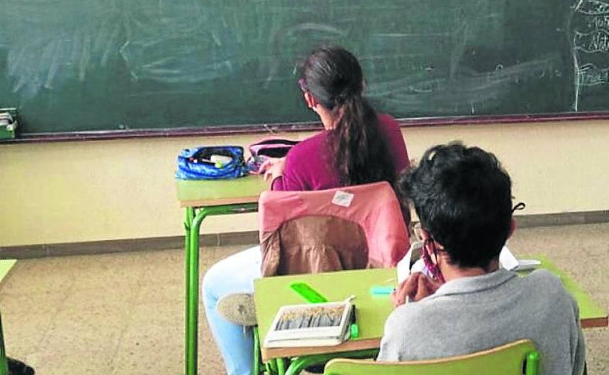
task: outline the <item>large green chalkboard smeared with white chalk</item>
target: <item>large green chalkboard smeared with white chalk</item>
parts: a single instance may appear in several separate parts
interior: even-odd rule
[[[395,117],[609,110],[609,0],[0,0],[22,131],[314,120],[298,61],[353,50]]]

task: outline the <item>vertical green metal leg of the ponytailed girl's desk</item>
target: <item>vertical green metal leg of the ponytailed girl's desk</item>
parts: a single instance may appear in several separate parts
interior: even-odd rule
[[[207,216],[206,208],[195,212],[186,210],[186,229],[188,238],[186,246],[186,375],[197,374],[197,339],[199,332],[199,231],[203,219]],[[188,225],[187,225],[188,227]]]

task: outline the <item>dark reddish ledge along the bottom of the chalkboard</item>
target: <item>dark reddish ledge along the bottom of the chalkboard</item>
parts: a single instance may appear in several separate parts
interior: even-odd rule
[[[563,122],[578,120],[609,120],[609,112],[579,112],[569,114],[535,114],[535,115],[494,115],[462,117],[418,117],[415,119],[398,119],[402,127],[429,127],[451,125],[490,125],[496,123],[535,123]],[[86,140],[111,140],[150,137],[192,137],[192,136],[226,136],[233,134],[273,134],[278,132],[317,131],[322,129],[320,123],[274,123],[252,125],[222,125],[192,128],[168,129],[130,129],[110,131],[74,131],[24,133],[15,139],[0,139],[0,144],[35,143],[35,142],[73,142]]]

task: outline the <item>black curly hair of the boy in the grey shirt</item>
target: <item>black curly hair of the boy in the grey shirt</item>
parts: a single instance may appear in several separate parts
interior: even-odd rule
[[[452,264],[486,270],[498,258],[512,226],[512,181],[495,155],[459,142],[434,146],[398,185]]]

